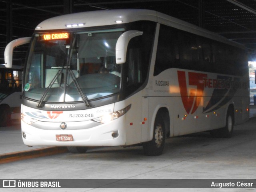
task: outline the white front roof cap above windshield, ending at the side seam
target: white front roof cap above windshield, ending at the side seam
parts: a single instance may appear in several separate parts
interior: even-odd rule
[[[37,27],[39,30],[56,30],[67,29],[67,25],[84,24],[84,26],[76,26],[74,28],[95,27],[117,24],[116,21],[129,23],[138,20],[157,21],[157,12],[152,10],[141,9],[117,9],[117,10],[100,10],[88,11],[74,14],[67,14],[49,18],[41,22]]]

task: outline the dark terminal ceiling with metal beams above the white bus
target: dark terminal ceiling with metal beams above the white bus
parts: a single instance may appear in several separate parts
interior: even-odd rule
[[[201,26],[244,44],[251,60],[256,60],[256,0],[0,0],[0,63],[4,63],[4,48],[10,40],[31,36],[45,19],[124,8],[156,10]],[[15,55],[23,63],[26,48]]]

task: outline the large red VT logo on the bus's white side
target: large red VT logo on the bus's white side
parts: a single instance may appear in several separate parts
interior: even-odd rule
[[[185,71],[178,71],[180,95],[188,114],[193,114],[201,102],[204,93],[204,78],[207,78],[207,74],[188,72],[188,85],[196,86],[196,89],[190,89],[188,93],[186,73]]]

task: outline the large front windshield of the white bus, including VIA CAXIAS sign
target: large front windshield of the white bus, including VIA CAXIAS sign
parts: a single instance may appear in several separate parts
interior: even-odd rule
[[[24,96],[39,101],[47,92],[45,102],[75,102],[83,95],[91,100],[118,93],[122,65],[116,64],[115,47],[122,31],[35,34]]]

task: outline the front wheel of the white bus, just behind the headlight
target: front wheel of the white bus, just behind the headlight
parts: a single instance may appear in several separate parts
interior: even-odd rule
[[[159,156],[162,154],[165,137],[164,120],[160,115],[157,115],[154,123],[153,139],[142,144],[144,154],[147,156]]]

